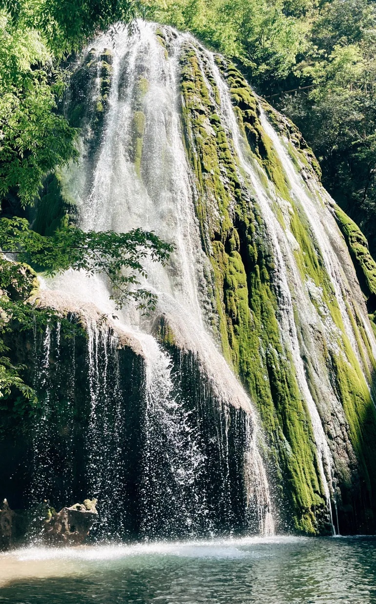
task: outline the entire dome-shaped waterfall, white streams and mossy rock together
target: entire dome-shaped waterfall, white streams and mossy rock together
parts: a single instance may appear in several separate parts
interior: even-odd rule
[[[333,202],[235,68],[187,34],[138,27],[83,55],[78,72],[91,73],[91,86],[73,82],[81,96],[71,92],[66,109],[82,111],[83,96],[91,113],[62,182],[83,229],[141,227],[175,251],[164,267],[145,260],[142,285],[158,297],[151,316],[116,310],[105,278],[68,271],[45,286],[88,334],[70,352],[84,369],[77,375],[73,362],[76,402],[59,436],[62,457],[77,460],[81,448],[79,478],[66,470],[55,492],[98,498],[98,539],[268,535],[262,447],[285,526],[335,533],[331,504],[351,507],[343,485],[362,463],[353,416],[363,411],[352,405],[368,404],[376,342]],[[112,323],[98,325],[102,313]],[[59,397],[51,337],[37,361],[47,394],[35,501],[59,484],[44,454]]]

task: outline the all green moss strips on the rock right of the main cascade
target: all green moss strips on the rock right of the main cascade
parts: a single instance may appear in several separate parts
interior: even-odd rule
[[[186,45],[181,59],[182,120],[186,151],[196,176],[196,215],[201,239],[213,268],[222,350],[258,406],[285,524],[292,530],[315,534],[328,530],[325,520],[328,510],[310,413],[297,385],[293,359],[282,343],[279,330],[277,292],[271,280],[275,268],[273,254],[268,248],[258,204],[244,190],[242,177],[247,181],[247,176],[242,174],[233,143],[221,124],[218,91],[209,79],[210,69],[206,72],[204,57],[198,62],[198,53],[192,45]],[[305,208],[299,200],[291,199],[282,164],[262,129],[258,99],[235,66],[222,57],[215,57],[215,61],[229,83],[239,129],[248,143],[246,152],[254,165],[260,166],[265,191],[269,188],[268,177],[288,201],[290,216],[282,215],[278,204],[274,213],[297,242],[294,256],[301,280],[306,283],[323,324],[332,321],[333,333],[337,334],[328,350],[324,332],[317,333],[320,362],[326,364],[332,387],[343,405],[361,480],[367,485],[370,500],[376,479],[371,463],[376,452],[375,412],[360,363],[345,331],[331,278]],[[296,127],[271,109],[268,115],[288,138],[296,168],[300,170],[303,164],[314,175],[316,160]],[[261,172],[261,167],[265,172]],[[371,292],[374,268],[365,259],[364,242],[359,242],[358,235],[355,243],[359,262],[369,271]],[[295,313],[299,326],[297,309]],[[375,371],[371,342],[356,307],[349,305],[348,314],[361,364],[371,383],[372,368]],[[317,391],[316,368],[311,359],[305,359],[305,369],[311,394],[320,408],[322,395]],[[340,469],[337,471],[341,474]],[[352,480],[349,472],[342,474],[342,484],[348,484]]]

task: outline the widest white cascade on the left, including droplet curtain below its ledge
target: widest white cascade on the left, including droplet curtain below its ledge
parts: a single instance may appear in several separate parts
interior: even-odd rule
[[[267,474],[257,445],[258,419],[211,327],[216,319],[207,275],[212,269],[201,247],[195,187],[180,124],[178,77],[184,36],[170,31],[171,50],[166,56],[155,27],[140,23],[139,29],[132,37],[121,30],[115,36],[108,110],[96,155],[93,158],[83,150],[79,165],[70,166],[63,176],[78,200],[80,226],[85,230],[122,232],[141,226],[174,243],[166,267],[146,259],[145,286],[157,294],[157,310],[152,317],[142,316],[133,306],[115,310],[109,299],[111,284],[82,272],[67,271],[48,281],[47,288],[80,304],[94,303],[99,313],[116,315],[115,330],[130,334],[140,344],[145,390],[140,393],[138,534],[145,538],[214,535],[221,525],[231,531],[241,525],[237,518],[244,515],[238,510],[242,497],[247,508],[243,528],[270,534],[274,527]],[[96,40],[96,56],[106,46],[111,46],[106,37]],[[96,82],[94,96],[98,89]],[[137,119],[143,130],[141,161],[134,149]],[[191,373],[199,367],[203,386],[194,396],[184,391],[176,363],[155,338],[155,317],[161,315],[183,355],[189,356]],[[106,538],[110,532],[114,538],[129,534],[126,520],[115,531],[110,520],[115,510],[129,513],[120,501],[125,481],[126,443],[121,439],[126,395],[118,370],[111,371],[111,381],[108,376],[108,363],[117,362],[114,332],[97,327],[90,317],[85,322],[90,400],[86,483],[89,495],[99,499],[97,537]],[[180,362],[186,363],[183,358]],[[212,426],[207,425],[205,413],[213,416]],[[236,474],[229,466],[229,446],[239,448],[232,462],[238,464]],[[210,468],[218,478],[210,477]],[[233,494],[234,481],[245,495]]]

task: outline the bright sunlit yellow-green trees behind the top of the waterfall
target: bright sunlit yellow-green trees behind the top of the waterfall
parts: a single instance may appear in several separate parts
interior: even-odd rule
[[[300,24],[276,0],[144,0],[157,21],[189,30],[206,45],[239,60],[257,80],[287,76],[302,49]]]

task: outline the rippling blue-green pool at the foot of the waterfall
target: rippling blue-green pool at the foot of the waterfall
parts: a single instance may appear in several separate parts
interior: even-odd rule
[[[0,555],[15,604],[376,603],[375,538],[252,538]]]

